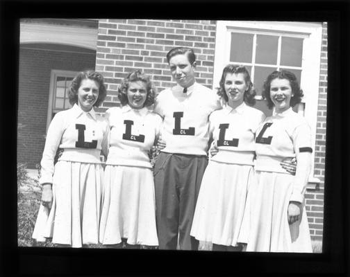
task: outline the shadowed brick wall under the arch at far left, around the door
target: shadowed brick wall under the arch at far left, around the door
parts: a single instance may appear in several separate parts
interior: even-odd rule
[[[28,46],[27,46],[28,47]],[[40,163],[44,150],[51,69],[94,69],[96,56],[28,49],[19,50],[17,162],[28,168]]]

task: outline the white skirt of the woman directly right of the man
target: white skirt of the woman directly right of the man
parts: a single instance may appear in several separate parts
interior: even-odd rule
[[[210,161],[203,175],[191,235],[197,240],[237,246],[252,166]]]

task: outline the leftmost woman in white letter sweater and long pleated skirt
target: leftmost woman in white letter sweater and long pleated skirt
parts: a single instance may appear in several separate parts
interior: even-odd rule
[[[107,155],[108,122],[97,115],[106,97],[103,76],[78,73],[69,88],[71,109],[60,111],[47,131],[41,161],[42,204],[33,238],[54,244],[82,247],[99,242],[103,168]],[[58,162],[54,158],[62,149]]]

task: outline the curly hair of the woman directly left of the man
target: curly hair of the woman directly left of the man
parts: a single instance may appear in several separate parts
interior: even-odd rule
[[[143,107],[149,107],[153,105],[154,98],[156,96],[156,88],[153,87],[151,78],[149,78],[149,76],[145,75],[140,70],[136,70],[129,73],[126,76],[126,78],[122,80],[122,83],[119,85],[118,99],[120,100],[120,103],[122,104],[122,106],[128,104],[127,91],[128,91],[129,83],[138,82],[138,81],[144,82],[146,84],[146,89],[147,89],[147,97],[146,97],[146,100],[144,101]]]

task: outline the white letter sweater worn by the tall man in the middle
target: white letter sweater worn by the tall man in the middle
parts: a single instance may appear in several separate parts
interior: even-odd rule
[[[208,117],[220,109],[219,96],[197,82],[183,93],[176,85],[156,98],[154,111],[163,118],[162,139],[168,153],[206,155],[209,140]]]

